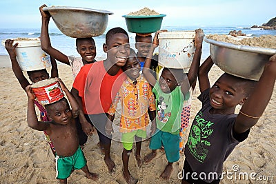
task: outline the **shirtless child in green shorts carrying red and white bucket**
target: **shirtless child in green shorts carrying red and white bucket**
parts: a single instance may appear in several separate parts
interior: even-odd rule
[[[75,118],[79,115],[79,105],[63,82],[58,78],[56,79],[59,81],[61,90],[65,92],[72,110],[67,99],[63,97],[55,103],[45,105],[50,121],[38,121],[34,110],[35,95],[32,92],[31,85],[28,85],[26,87],[28,126],[34,130],[45,131],[50,136],[56,150],[57,179],[60,183],[67,183],[67,178],[72,170],[82,170],[86,173],[87,178],[97,181],[98,174],[89,172],[86,158],[79,146],[75,125]]]

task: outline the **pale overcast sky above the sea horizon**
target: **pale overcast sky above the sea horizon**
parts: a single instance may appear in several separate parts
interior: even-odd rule
[[[275,0],[1,0],[0,28],[40,28],[39,6],[75,6],[114,12],[108,26],[125,25],[121,16],[148,7],[166,14],[162,25],[262,25],[276,17]],[[50,21],[50,27],[55,27]]]

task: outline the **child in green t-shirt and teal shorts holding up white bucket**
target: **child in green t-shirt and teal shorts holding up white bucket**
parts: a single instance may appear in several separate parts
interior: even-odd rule
[[[157,31],[155,38],[152,41],[152,47],[148,55],[151,56],[153,50],[158,45],[157,36],[160,31]],[[184,71],[181,69],[164,68],[161,72],[159,81],[156,81],[155,77],[149,72],[151,59],[147,58],[143,73],[153,88],[157,105],[157,117],[156,124],[153,130],[155,134],[150,140],[150,149],[152,152],[146,155],[144,161],[147,163],[155,158],[157,149],[164,146],[166,158],[168,164],[164,172],[161,174],[161,178],[168,179],[172,172],[172,163],[179,160],[179,129],[180,129],[180,113],[184,101],[189,98],[190,86],[197,79],[197,73],[199,70],[199,62],[201,58],[201,48],[203,41],[203,31],[201,29],[195,30],[195,54],[193,62],[190,65],[188,77],[184,75]],[[155,122],[155,121],[154,121]]]

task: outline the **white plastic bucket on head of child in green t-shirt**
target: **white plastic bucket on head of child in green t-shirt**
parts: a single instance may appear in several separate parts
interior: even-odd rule
[[[195,31],[160,32],[159,65],[188,72],[195,54]]]

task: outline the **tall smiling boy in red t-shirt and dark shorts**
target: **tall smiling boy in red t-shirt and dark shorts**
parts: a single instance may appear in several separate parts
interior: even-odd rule
[[[76,76],[71,92],[82,107],[79,119],[86,140],[87,136],[92,134],[94,125],[99,136],[99,145],[103,147],[104,161],[108,171],[112,173],[115,163],[110,158],[112,136],[106,134],[106,113],[112,103],[112,97],[117,94],[126,79],[121,67],[126,64],[130,54],[128,33],[122,28],[108,30],[103,51],[107,53],[107,58],[84,65]]]

